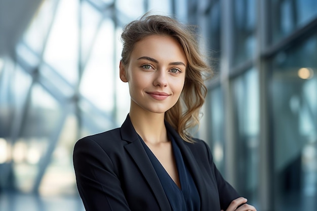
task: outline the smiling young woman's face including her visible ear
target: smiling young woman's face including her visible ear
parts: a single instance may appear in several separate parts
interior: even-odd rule
[[[173,37],[149,35],[138,41],[129,64],[120,64],[120,77],[129,82],[131,108],[164,113],[173,107],[184,87],[186,65],[185,53]]]

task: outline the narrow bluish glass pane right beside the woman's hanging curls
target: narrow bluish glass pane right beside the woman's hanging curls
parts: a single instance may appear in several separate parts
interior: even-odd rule
[[[209,93],[210,103],[210,127],[209,138],[214,162],[223,176],[225,176],[224,163],[224,105],[221,87],[217,87]]]

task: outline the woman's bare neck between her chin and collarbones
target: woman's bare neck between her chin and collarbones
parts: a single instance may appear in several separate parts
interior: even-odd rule
[[[130,108],[129,113],[135,131],[144,142],[159,144],[167,142],[167,131],[164,124],[164,113],[152,113]]]

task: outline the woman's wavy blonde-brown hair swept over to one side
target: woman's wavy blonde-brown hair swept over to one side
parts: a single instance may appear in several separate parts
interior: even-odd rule
[[[127,24],[121,40],[123,43],[122,62],[129,64],[134,45],[149,35],[169,35],[181,45],[187,58],[185,83],[177,103],[165,113],[165,120],[177,131],[181,138],[193,142],[188,130],[199,125],[200,109],[205,102],[207,88],[206,76],[212,73],[211,67],[204,61],[199,51],[194,27],[184,25],[177,20],[162,15],[143,15],[139,20]]]

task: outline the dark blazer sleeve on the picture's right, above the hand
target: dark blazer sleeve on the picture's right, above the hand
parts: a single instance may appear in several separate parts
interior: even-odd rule
[[[239,193],[236,192],[236,190],[222,177],[220,174],[218,168],[216,167],[213,156],[211,154],[210,148],[206,144],[206,142],[203,142],[207,148],[208,158],[209,158],[209,164],[211,165],[211,169],[215,173],[215,178],[217,181],[218,186],[218,193],[219,193],[219,200],[220,200],[220,207],[223,210],[226,210],[228,206],[230,205],[231,201],[241,197]]]

